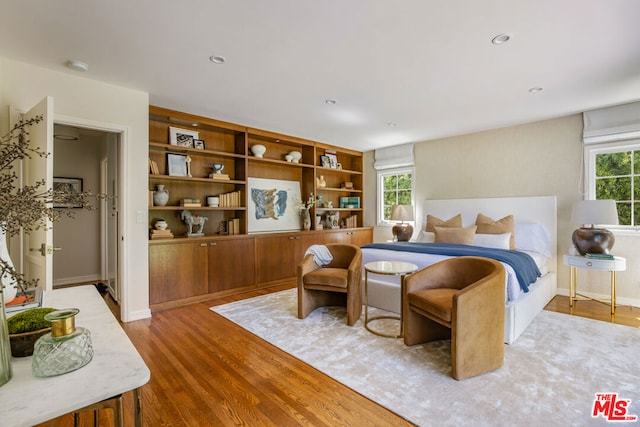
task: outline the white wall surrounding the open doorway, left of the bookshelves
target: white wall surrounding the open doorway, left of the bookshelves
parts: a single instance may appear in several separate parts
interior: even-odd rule
[[[0,129],[8,130],[9,106],[30,108],[45,96],[54,98],[56,117],[78,118],[123,128],[121,165],[126,180],[122,196],[124,242],[122,320],[150,316],[147,239],[147,165],[149,95],[71,74],[0,57]],[[135,183],[135,184],[134,184]],[[143,215],[136,222],[136,214]]]

